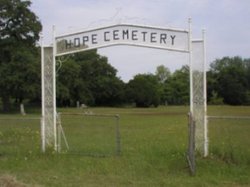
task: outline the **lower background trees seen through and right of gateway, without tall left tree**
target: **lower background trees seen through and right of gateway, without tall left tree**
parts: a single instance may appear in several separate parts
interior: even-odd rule
[[[155,73],[137,74],[128,83],[96,50],[71,55],[57,76],[57,103],[75,106],[157,107],[189,104],[189,66],[174,71],[160,65]],[[250,59],[223,57],[207,71],[209,104],[250,104]]]

